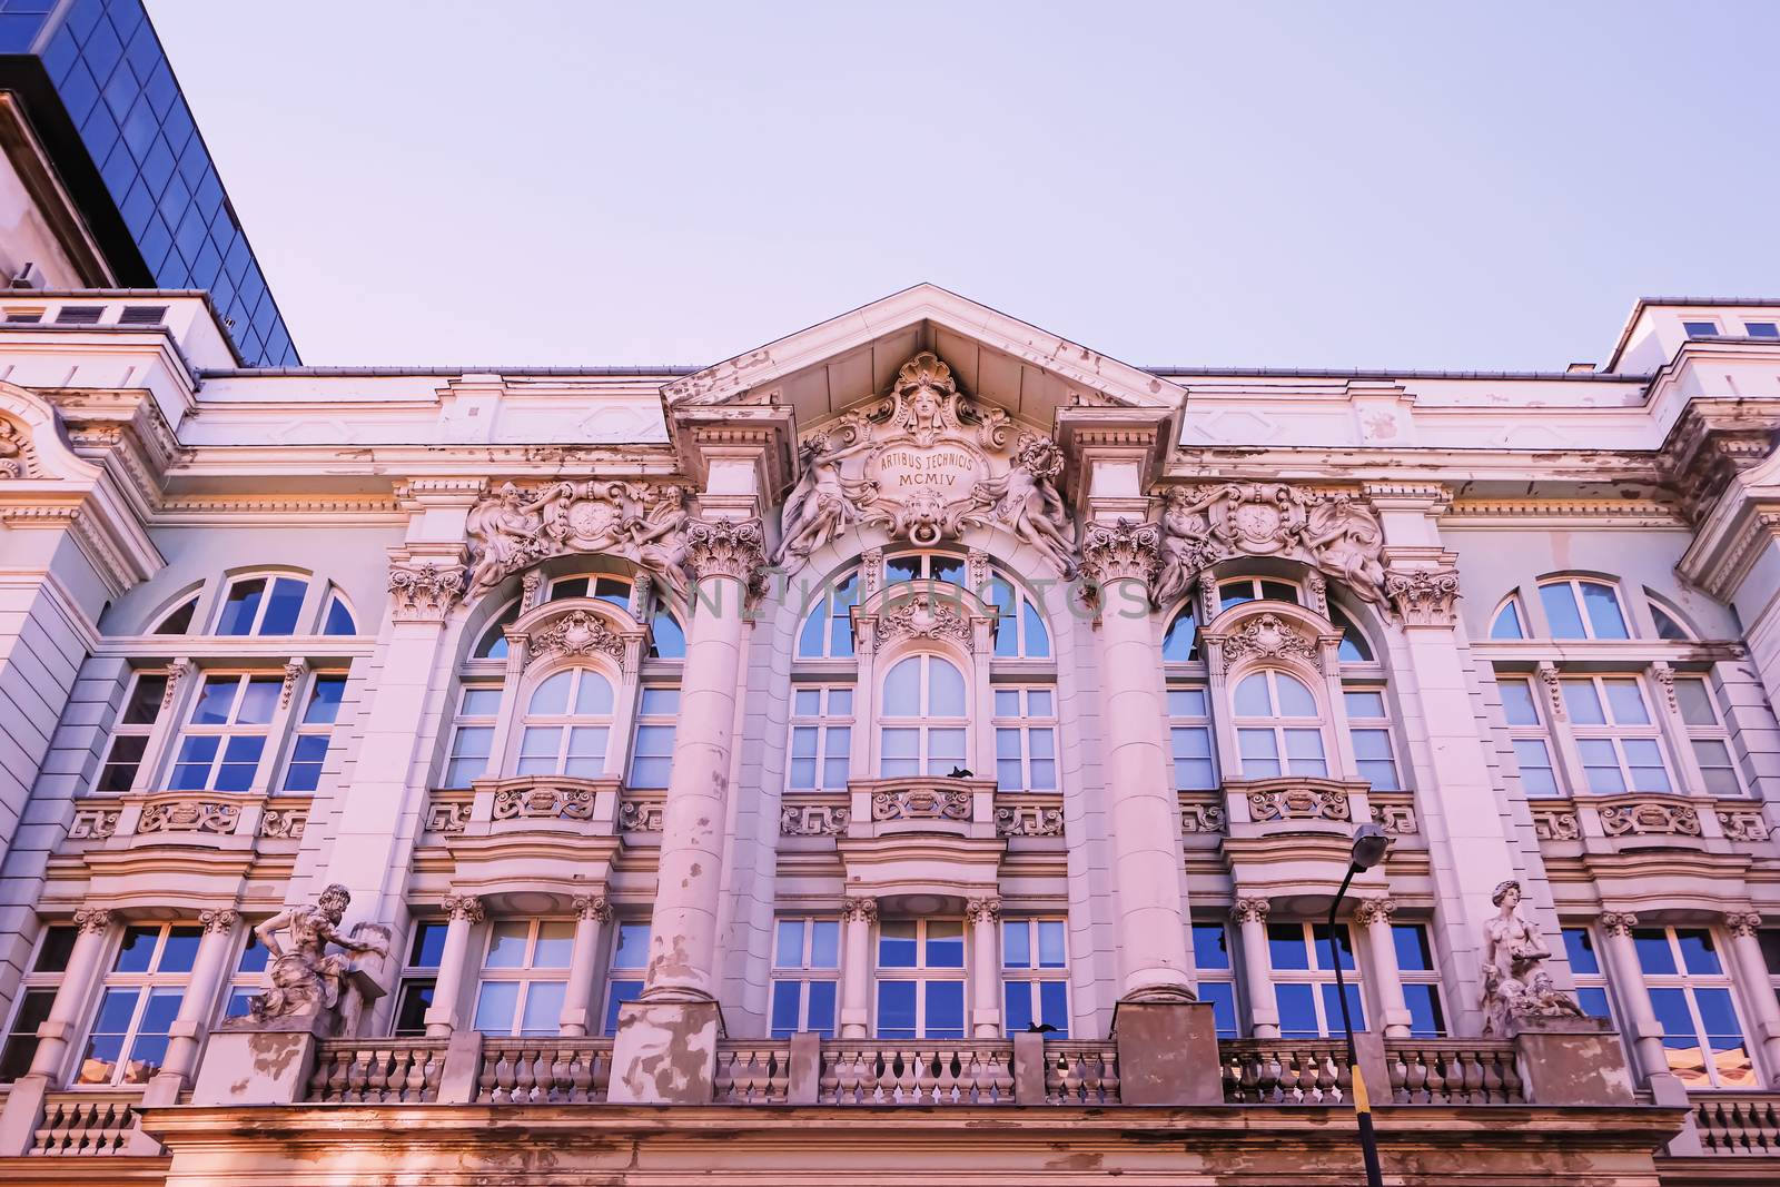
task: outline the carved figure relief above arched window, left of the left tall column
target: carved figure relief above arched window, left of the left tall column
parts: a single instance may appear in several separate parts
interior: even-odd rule
[[[678,484],[595,479],[522,491],[504,482],[470,511],[468,593],[479,598],[548,557],[603,553],[630,561],[685,596],[685,502]]]

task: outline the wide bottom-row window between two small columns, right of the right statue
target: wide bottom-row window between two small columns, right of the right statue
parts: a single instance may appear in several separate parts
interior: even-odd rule
[[[1670,1071],[1687,1087],[1759,1087],[1730,975],[1705,927],[1632,931]]]

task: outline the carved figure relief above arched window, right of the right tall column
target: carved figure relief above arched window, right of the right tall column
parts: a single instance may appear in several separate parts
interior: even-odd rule
[[[1159,605],[1185,594],[1203,569],[1234,557],[1303,561],[1344,582],[1362,602],[1385,600],[1385,532],[1371,505],[1353,495],[1285,482],[1171,489],[1161,530]]]

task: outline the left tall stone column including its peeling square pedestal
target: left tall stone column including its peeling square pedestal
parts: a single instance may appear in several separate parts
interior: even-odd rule
[[[639,1000],[618,1014],[612,1100],[710,1102],[723,1030],[716,997],[717,906],[746,634],[742,609],[765,566],[764,545],[756,518],[692,520],[685,527],[692,621],[668,776],[650,965]]]

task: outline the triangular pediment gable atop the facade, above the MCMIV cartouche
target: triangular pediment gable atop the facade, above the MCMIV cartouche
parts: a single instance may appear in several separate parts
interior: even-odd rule
[[[1185,392],[936,285],[915,285],[664,388],[671,408],[771,404],[799,425],[883,395],[933,352],[974,399],[1048,429],[1061,408],[1180,408]]]

